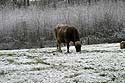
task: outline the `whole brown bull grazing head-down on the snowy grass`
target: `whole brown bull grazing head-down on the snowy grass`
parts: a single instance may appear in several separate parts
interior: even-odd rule
[[[77,29],[73,26],[68,26],[64,24],[57,25],[54,29],[56,41],[57,41],[57,49],[61,51],[61,43],[67,44],[67,52],[69,52],[69,43],[72,41],[75,45],[76,52],[81,51],[81,43],[79,38],[79,33]]]

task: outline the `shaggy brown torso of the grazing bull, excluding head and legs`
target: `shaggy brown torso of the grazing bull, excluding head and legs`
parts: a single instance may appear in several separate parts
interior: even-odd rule
[[[72,26],[57,26],[55,28],[56,39],[62,43],[70,41],[79,41],[79,34],[75,27]]]

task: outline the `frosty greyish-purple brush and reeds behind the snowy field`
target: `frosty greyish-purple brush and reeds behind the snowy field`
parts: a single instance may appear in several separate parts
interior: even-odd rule
[[[55,46],[53,28],[77,27],[83,44],[125,40],[123,0],[1,0],[0,49]]]

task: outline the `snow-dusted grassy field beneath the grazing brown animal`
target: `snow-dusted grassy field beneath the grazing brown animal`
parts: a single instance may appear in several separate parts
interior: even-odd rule
[[[118,43],[1,50],[0,83],[125,83],[125,50]]]

